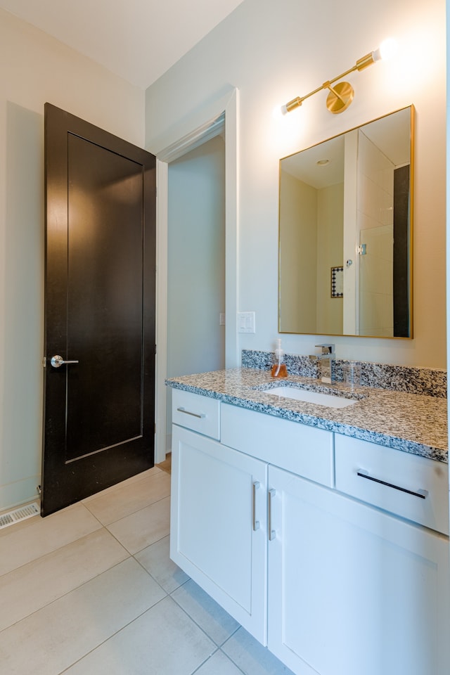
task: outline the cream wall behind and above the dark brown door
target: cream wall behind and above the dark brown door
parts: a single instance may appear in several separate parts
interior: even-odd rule
[[[143,146],[144,93],[0,11],[0,509],[41,473],[44,103]]]

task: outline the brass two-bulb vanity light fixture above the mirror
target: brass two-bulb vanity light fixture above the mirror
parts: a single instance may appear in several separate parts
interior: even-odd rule
[[[292,101],[282,105],[281,112],[283,115],[286,115],[286,113],[290,113],[291,110],[299,108],[303,101],[305,101],[310,96],[317,94],[318,91],[322,91],[322,89],[329,89],[330,93],[326,99],[326,107],[328,110],[330,110],[330,113],[343,113],[353,101],[354,89],[352,85],[349,84],[349,82],[338,82],[338,84],[335,84],[335,86],[331,85],[334,84],[334,82],[337,82],[338,79],[342,79],[342,77],[349,75],[350,72],[354,72],[354,70],[364,70],[369,65],[372,65],[372,63],[375,63],[375,61],[390,58],[394,50],[395,42],[392,40],[392,38],[383,41],[378,49],[375,49],[375,51],[370,51],[368,54],[366,54],[366,56],[359,58],[353,68],[345,70],[345,72],[342,72],[337,77],[333,77],[333,79],[328,79],[327,82],[323,82],[321,86],[318,86],[317,89],[314,89],[314,91],[310,91],[306,96],[297,96],[296,98],[293,98]]]

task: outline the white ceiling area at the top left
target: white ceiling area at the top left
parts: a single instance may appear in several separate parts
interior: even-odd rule
[[[0,8],[143,89],[243,0],[0,0]]]

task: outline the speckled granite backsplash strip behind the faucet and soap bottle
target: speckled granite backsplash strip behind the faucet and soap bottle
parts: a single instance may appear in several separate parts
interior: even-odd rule
[[[288,373],[317,377],[317,365],[308,356],[285,354],[283,359]],[[242,365],[244,368],[261,368],[269,370],[274,363],[274,352],[258,352],[243,349]],[[336,359],[336,379],[342,382],[342,366],[348,364],[345,359]],[[426,396],[447,395],[447,373],[439,368],[414,368],[413,366],[392,366],[390,364],[373,364],[368,361],[355,361],[361,367],[361,385],[390,389],[395,392],[409,394],[425,394]]]

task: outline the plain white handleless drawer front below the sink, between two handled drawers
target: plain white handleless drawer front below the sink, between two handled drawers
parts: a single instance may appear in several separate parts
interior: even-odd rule
[[[221,443],[333,487],[333,433],[221,404]]]

